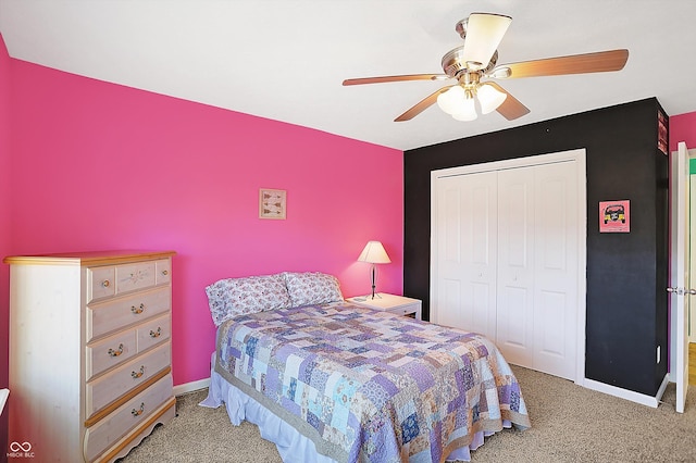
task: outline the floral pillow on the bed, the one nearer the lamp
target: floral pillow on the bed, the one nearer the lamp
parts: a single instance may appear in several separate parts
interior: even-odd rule
[[[294,308],[341,301],[338,278],[320,272],[285,272],[285,284]]]

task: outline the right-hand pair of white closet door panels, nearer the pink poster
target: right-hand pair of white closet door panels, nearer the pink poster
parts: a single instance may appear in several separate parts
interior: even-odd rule
[[[498,173],[497,343],[511,363],[576,376],[574,162]]]

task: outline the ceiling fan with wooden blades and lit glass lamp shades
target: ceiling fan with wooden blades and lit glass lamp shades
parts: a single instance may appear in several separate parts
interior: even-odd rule
[[[493,13],[472,13],[457,23],[455,29],[464,45],[443,57],[445,74],[408,74],[397,76],[349,78],[343,85],[380,84],[403,80],[447,80],[457,84],[443,87],[395,118],[410,121],[437,101],[443,111],[458,121],[476,118],[475,100],[481,112],[497,111],[508,121],[522,117],[530,110],[500,85],[484,78],[506,79],[564,74],[620,71],[629,59],[629,50],[609,50],[498,65],[498,45],[512,18]]]

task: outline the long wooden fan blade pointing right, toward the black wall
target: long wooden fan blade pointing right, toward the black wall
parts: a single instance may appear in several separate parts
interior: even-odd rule
[[[621,71],[629,60],[629,50],[598,51],[596,53],[572,54],[522,61],[496,66],[492,76],[505,77],[505,68],[510,70],[508,78],[558,76],[564,74],[605,73]],[[500,73],[502,71],[502,73]],[[501,75],[496,75],[496,72]]]

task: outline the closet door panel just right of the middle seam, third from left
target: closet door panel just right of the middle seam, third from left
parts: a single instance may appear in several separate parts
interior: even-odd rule
[[[497,345],[534,367],[534,168],[498,173]]]

